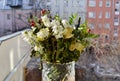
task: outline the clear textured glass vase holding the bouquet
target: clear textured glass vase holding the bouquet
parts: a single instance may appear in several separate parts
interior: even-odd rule
[[[64,64],[43,62],[42,81],[75,81],[75,62]]]

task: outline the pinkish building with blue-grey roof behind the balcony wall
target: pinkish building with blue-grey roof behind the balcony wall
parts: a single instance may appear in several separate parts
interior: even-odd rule
[[[27,28],[31,14],[40,15],[43,0],[0,0],[0,36]]]

